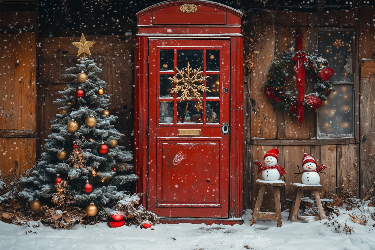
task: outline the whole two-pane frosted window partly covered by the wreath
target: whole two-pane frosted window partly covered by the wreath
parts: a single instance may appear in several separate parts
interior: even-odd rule
[[[318,53],[335,70],[330,80],[336,88],[319,109],[318,136],[322,138],[353,137],[353,36],[351,29],[318,31]]]

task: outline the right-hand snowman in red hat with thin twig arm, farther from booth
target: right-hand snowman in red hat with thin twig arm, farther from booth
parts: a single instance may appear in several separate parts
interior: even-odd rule
[[[317,167],[317,162],[308,154],[303,154],[302,159],[302,183],[306,185],[318,185],[320,183],[320,176],[318,172],[324,170],[326,165]]]

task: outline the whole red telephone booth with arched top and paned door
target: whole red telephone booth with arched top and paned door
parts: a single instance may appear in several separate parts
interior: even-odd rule
[[[241,223],[242,13],[185,0],[136,16],[135,165],[144,204],[164,223]],[[171,81],[187,63],[207,76],[199,99],[191,89],[185,100],[172,92],[193,78]]]

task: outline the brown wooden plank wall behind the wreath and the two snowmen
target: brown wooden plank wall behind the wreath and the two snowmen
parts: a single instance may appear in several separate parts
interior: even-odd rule
[[[371,90],[375,87],[375,74],[368,77],[370,74],[367,70],[366,78],[360,79],[358,60],[363,57],[371,58],[375,53],[374,13],[374,7],[329,13],[275,11],[275,25],[270,27],[261,40],[262,45],[258,48],[258,55],[255,55],[255,71],[248,75],[250,97],[245,98],[247,115],[246,126],[244,126],[247,127],[244,190],[248,192],[244,195],[245,208],[254,209],[259,190],[259,187],[254,185],[255,180],[260,178],[256,174],[258,167],[251,161],[256,159],[262,161],[264,154],[272,148],[279,149],[279,165],[284,166],[288,171],[288,174],[282,177],[287,184],[285,193],[281,195],[282,199],[292,199],[294,193],[292,184],[301,181],[301,175],[294,178],[293,173],[298,172],[296,165],[301,165],[303,153],[314,157],[318,165],[327,165],[326,174],[320,174],[323,185],[322,198],[329,198],[333,193],[337,193],[336,187],[339,185],[354,190],[354,195],[363,198],[365,195],[363,189],[374,182],[375,94]],[[270,100],[265,96],[264,81],[270,63],[276,60],[284,49],[289,49],[288,43],[296,42],[296,36],[292,33],[293,27],[302,27],[304,47],[302,50],[308,50],[310,53],[316,49],[316,27],[354,28],[356,33],[354,47],[357,48],[354,53],[354,139],[311,139],[317,136],[317,115],[314,112],[305,115],[303,123],[299,123],[296,119],[292,119],[288,112],[273,110]],[[366,62],[366,65],[369,63]],[[312,84],[309,84],[308,77],[306,82],[305,91],[309,91]],[[252,112],[252,102],[255,103],[257,114]],[[310,195],[305,193],[305,196]],[[263,207],[274,207],[271,192],[267,194]],[[289,208],[288,203],[283,208]]]

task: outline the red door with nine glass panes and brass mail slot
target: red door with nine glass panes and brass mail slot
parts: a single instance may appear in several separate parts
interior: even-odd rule
[[[167,79],[189,62],[210,92],[180,102]],[[229,40],[149,40],[148,208],[161,217],[228,217]],[[177,76],[180,78],[180,76]]]

